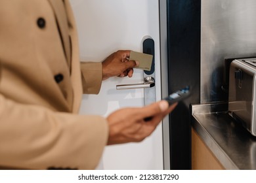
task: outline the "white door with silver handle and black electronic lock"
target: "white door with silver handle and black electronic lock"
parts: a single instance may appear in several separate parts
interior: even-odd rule
[[[81,60],[102,61],[117,50],[142,52],[142,39],[155,44],[156,101],[161,99],[158,0],[70,0],[79,33]],[[142,83],[143,71],[132,78],[110,78],[98,95],[83,95],[81,114],[108,116],[121,107],[142,107],[145,89],[116,90],[117,84]],[[152,88],[150,89],[152,90]],[[163,169],[161,124],[139,143],[106,146],[98,169]]]

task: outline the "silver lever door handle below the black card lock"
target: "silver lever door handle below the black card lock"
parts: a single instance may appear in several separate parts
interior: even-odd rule
[[[119,84],[116,86],[116,90],[127,90],[137,88],[152,88],[155,86],[155,79],[152,76],[144,78],[144,83],[140,84]]]

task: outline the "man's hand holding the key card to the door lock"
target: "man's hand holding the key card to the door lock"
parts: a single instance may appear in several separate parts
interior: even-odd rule
[[[119,50],[102,61],[102,79],[112,76],[133,76],[133,67],[139,66],[138,61],[130,60],[130,50]]]

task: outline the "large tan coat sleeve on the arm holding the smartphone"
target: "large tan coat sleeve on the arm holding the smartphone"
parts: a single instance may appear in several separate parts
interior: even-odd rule
[[[0,93],[0,167],[95,169],[108,138],[100,116],[53,112]]]

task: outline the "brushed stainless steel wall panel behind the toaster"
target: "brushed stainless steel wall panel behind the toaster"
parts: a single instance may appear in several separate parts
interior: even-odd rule
[[[224,100],[224,58],[256,56],[255,7],[255,0],[202,0],[201,103]]]

